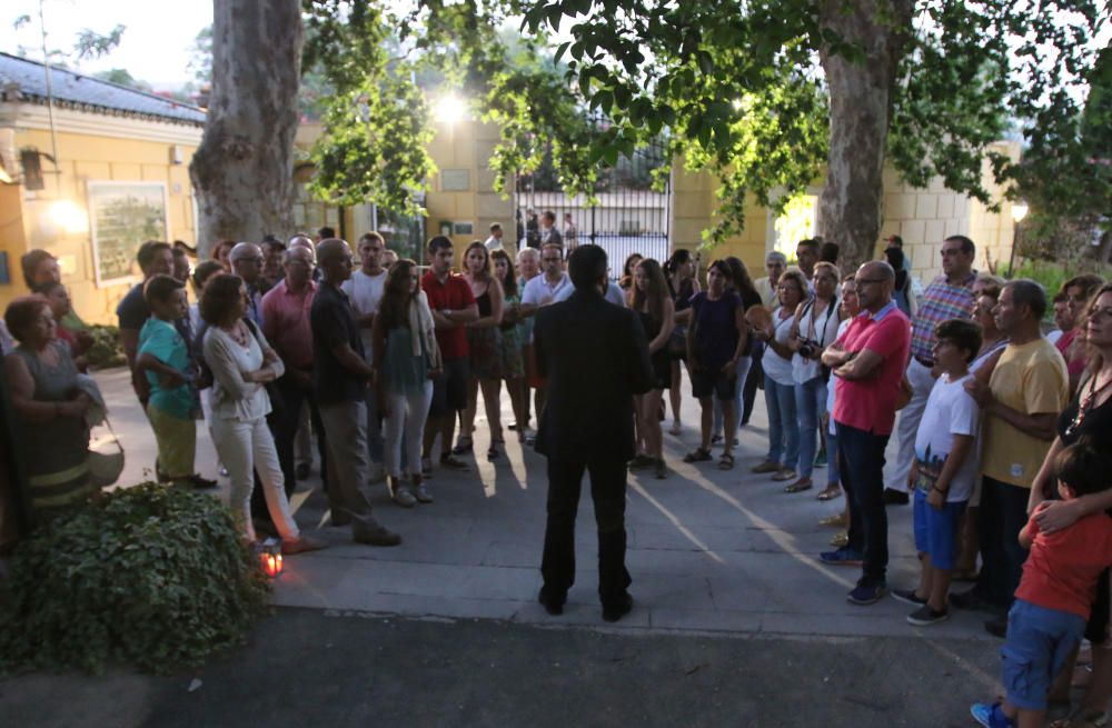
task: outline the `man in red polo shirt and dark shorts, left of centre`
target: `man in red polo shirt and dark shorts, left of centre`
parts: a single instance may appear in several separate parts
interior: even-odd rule
[[[420,467],[426,476],[433,470],[433,443],[440,436],[440,465],[466,470],[467,463],[451,457],[451,438],[456,415],[467,407],[468,349],[464,325],[479,317],[471,287],[463,276],[451,272],[451,240],[437,236],[428,241],[429,271],[420,287],[433,309],[436,343],[440,348],[444,370],[433,380],[433,403],[425,425],[425,442]]]

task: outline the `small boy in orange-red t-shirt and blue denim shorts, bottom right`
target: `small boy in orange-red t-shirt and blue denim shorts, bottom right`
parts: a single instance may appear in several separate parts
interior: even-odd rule
[[[1054,460],[1063,500],[1105,490],[1112,461],[1084,439]],[[986,728],[1041,728],[1046,695],[1066,656],[1081,642],[1101,571],[1112,565],[1112,519],[1092,513],[1053,533],[1034,517],[1020,531],[1031,554],[1015,602],[1007,614],[1007,641],[1001,650],[1007,696],[1003,704],[976,702],[973,718]]]

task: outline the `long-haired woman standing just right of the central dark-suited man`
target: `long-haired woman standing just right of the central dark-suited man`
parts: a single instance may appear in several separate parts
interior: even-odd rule
[[[652,390],[635,398],[646,453],[634,458],[634,463],[638,466],[652,463],[657,478],[667,478],[668,469],[664,465],[664,433],[661,430],[661,403],[664,390],[672,383],[672,358],[667,345],[675,328],[675,310],[661,263],[652,258],[642,260],[634,269],[633,310],[637,311],[645,326],[648,353],[656,379]]]

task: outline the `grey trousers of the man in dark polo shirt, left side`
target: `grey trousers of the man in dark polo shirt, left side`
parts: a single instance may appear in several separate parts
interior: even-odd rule
[[[367,405],[358,401],[320,403],[320,419],[328,436],[328,508],[358,521],[374,522],[370,503],[359,490],[367,482]]]

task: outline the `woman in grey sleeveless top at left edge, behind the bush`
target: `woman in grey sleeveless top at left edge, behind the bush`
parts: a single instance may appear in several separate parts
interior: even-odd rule
[[[22,458],[39,517],[78,503],[97,491],[89,480],[92,400],[78,388],[69,345],[60,341],[50,305],[42,296],[14,299],[4,322],[19,341],[4,357],[4,377],[22,438]]]

